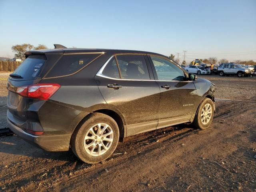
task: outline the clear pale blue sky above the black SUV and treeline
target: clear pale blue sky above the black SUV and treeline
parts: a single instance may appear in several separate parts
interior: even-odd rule
[[[29,43],[256,61],[256,0],[0,0],[0,26],[0,57]]]

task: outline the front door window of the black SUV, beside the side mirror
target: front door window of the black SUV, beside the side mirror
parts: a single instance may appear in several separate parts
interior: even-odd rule
[[[158,76],[158,80],[179,80],[182,81],[185,79],[185,75],[183,70],[181,70],[178,66],[171,63],[170,61],[151,56],[153,64],[156,69],[156,74]]]

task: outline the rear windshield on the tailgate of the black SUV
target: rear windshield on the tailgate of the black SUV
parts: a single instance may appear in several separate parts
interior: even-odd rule
[[[13,72],[22,78],[12,78],[12,80],[34,80],[37,79],[42,67],[46,62],[45,55],[30,55]]]

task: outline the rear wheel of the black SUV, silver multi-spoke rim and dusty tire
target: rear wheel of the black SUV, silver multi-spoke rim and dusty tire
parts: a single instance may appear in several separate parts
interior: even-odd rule
[[[88,115],[71,137],[71,148],[83,162],[101,162],[116,149],[119,129],[116,121],[101,113]]]

